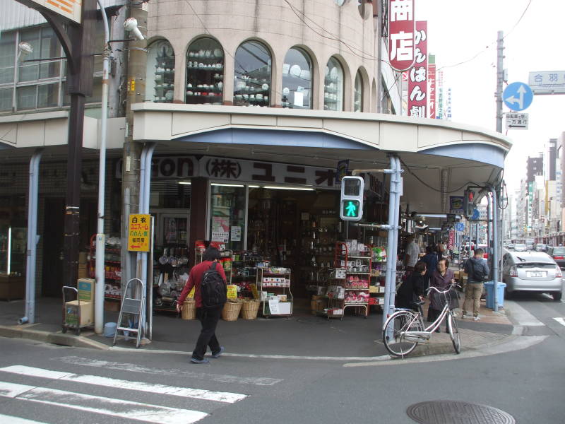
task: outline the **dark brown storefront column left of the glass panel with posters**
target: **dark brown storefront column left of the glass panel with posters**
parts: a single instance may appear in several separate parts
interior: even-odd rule
[[[197,177],[191,179],[190,199],[190,235],[189,235],[189,263],[194,260],[194,242],[208,240],[206,218],[208,216],[208,178]]]

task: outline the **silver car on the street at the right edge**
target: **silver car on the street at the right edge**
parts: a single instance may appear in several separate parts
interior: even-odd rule
[[[557,263],[542,252],[506,252],[502,257],[502,281],[506,293],[533,291],[549,293],[561,300],[563,274]]]

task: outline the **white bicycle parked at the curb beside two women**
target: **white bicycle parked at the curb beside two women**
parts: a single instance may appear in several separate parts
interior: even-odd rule
[[[432,322],[429,326],[424,326],[424,313],[422,311],[422,305],[424,302],[415,302],[418,306],[419,312],[414,312],[405,308],[398,308],[383,325],[383,343],[386,350],[394,356],[400,356],[404,358],[408,355],[420,343],[421,341],[428,341],[432,337],[432,334],[439,328],[441,322],[446,319],[447,329],[449,336],[451,337],[451,342],[453,343],[453,348],[456,353],[461,351],[461,341],[459,337],[459,329],[453,314],[453,310],[449,307],[449,299],[447,293],[451,291],[453,286],[450,285],[447,290],[441,291],[435,287],[430,287],[430,290],[435,290],[440,295],[444,296],[445,305],[444,309],[439,314],[439,317]]]

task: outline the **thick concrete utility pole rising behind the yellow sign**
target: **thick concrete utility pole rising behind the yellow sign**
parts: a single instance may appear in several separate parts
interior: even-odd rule
[[[143,34],[144,40],[129,42],[128,68],[127,68],[127,96],[126,96],[126,139],[124,141],[124,155],[122,160],[122,211],[121,219],[121,287],[125,288],[127,281],[132,276],[131,253],[128,251],[128,216],[129,213],[138,213],[139,205],[139,171],[141,168],[141,143],[133,141],[133,103],[145,100],[145,73],[147,66],[147,13],[148,3],[130,3],[129,16],[136,18],[138,29]]]

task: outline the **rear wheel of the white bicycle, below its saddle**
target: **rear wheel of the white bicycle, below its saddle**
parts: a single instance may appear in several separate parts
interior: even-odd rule
[[[403,357],[418,345],[405,337],[406,331],[423,331],[422,322],[414,312],[398,311],[388,317],[383,326],[383,343],[391,355]]]

